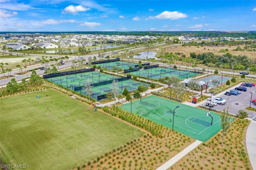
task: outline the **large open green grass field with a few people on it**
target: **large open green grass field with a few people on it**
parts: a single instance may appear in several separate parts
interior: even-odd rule
[[[75,168],[144,134],[55,90],[0,98],[0,106],[1,159],[31,170]]]

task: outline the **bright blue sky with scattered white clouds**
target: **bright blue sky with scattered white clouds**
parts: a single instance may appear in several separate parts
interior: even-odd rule
[[[0,31],[255,31],[256,0],[0,0]]]

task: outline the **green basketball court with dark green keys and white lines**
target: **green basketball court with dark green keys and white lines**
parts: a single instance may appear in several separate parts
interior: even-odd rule
[[[180,107],[176,108],[176,106]],[[131,103],[123,104],[119,107],[129,112],[132,108],[132,113],[170,129],[172,129],[173,125],[173,111],[176,108],[174,113],[174,131],[202,142],[206,142],[221,130],[219,114],[210,112],[210,115],[213,117],[212,121],[212,118],[206,115],[208,110],[187,106],[157,96],[142,98],[141,102],[140,99],[133,100],[132,107]]]

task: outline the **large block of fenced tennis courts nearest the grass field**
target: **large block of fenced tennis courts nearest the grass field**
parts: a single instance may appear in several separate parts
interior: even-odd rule
[[[102,72],[82,72],[79,74],[70,74],[65,76],[58,76],[47,78],[54,82],[55,84],[60,84],[66,88],[69,88],[73,91],[79,92],[80,94],[87,95],[86,82],[89,80],[92,86],[92,92],[90,97],[95,98],[97,100],[102,100],[106,98],[105,94],[108,92],[112,92],[113,80],[118,82],[118,91],[122,93],[124,88],[127,88],[128,91],[134,91],[138,89],[138,86],[149,86],[149,84],[136,82],[134,80],[130,80],[129,77],[118,77],[114,75],[104,74]]]

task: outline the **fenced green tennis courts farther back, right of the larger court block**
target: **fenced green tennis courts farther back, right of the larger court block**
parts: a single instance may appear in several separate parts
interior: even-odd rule
[[[190,78],[192,76],[198,75],[199,73],[190,72],[189,70],[185,71],[180,69],[156,67],[156,68],[151,68],[146,70],[138,70],[136,72],[130,72],[129,74],[136,75],[138,77],[141,76],[141,77],[158,80],[159,78],[169,77],[172,75],[177,76],[179,79]]]

